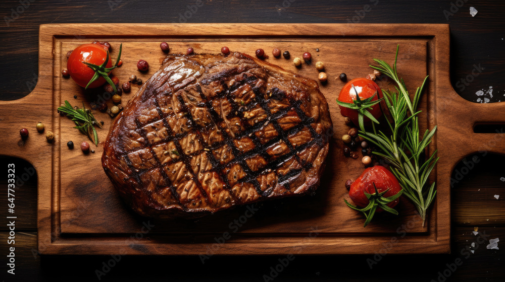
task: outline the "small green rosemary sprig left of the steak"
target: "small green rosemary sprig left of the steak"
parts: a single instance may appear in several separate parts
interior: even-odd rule
[[[91,110],[86,109],[84,102],[82,103],[82,109],[74,109],[72,105],[65,100],[65,106],[58,107],[58,112],[63,112],[68,115],[75,122],[76,126],[74,128],[79,129],[79,131],[89,137],[95,146],[98,146],[98,133],[96,133],[96,129],[93,125],[102,128],[102,124],[94,118]]]

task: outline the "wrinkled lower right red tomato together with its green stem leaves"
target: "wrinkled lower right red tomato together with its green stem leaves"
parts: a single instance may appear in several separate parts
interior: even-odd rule
[[[401,186],[394,175],[383,166],[373,166],[356,179],[349,189],[349,197],[357,206],[345,203],[356,210],[364,213],[367,217],[365,226],[370,223],[375,212],[386,210],[397,215],[394,207],[401,195]]]

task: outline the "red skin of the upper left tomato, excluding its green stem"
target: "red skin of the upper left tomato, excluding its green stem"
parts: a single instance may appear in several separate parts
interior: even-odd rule
[[[88,82],[94,76],[95,72],[89,68],[83,61],[96,65],[104,63],[107,57],[107,47],[100,44],[83,44],[75,48],[67,61],[67,69],[70,77],[80,86],[86,87]],[[109,61],[106,68],[112,66],[112,59],[109,54]],[[88,88],[96,88],[106,83],[103,77],[92,82]]]

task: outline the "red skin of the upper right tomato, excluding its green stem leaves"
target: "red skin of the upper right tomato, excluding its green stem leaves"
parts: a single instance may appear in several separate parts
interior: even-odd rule
[[[338,95],[338,101],[345,103],[354,103],[354,100],[356,100],[356,92],[352,88],[352,85],[354,85],[356,91],[358,92],[358,95],[360,96],[360,99],[362,100],[372,97],[372,95],[374,95],[376,91],[377,95],[375,95],[372,101],[377,101],[378,99],[377,96],[379,96],[379,98],[382,98],[382,91],[374,81],[365,78],[357,78],[345,84],[345,86],[340,91],[340,94]],[[355,125],[359,124],[358,111],[342,107],[340,105],[339,107],[340,107],[340,114],[350,118],[350,120],[354,122]],[[372,109],[368,109],[368,111],[377,119],[382,115],[382,110],[379,104],[373,106]],[[368,124],[371,122],[370,118],[366,116],[364,121],[365,123]]]

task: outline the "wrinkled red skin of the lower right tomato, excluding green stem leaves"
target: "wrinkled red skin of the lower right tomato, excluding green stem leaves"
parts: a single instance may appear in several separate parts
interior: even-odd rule
[[[389,189],[383,195],[385,198],[396,195],[401,190],[401,186],[396,177],[394,177],[393,173],[383,166],[373,166],[365,169],[360,177],[358,177],[358,179],[350,185],[349,197],[357,206],[366,207],[369,200],[367,199],[365,192],[374,194],[374,183],[379,193]],[[399,198],[387,203],[386,205],[394,207],[398,201]],[[377,209],[378,212],[381,210],[381,208]]]

